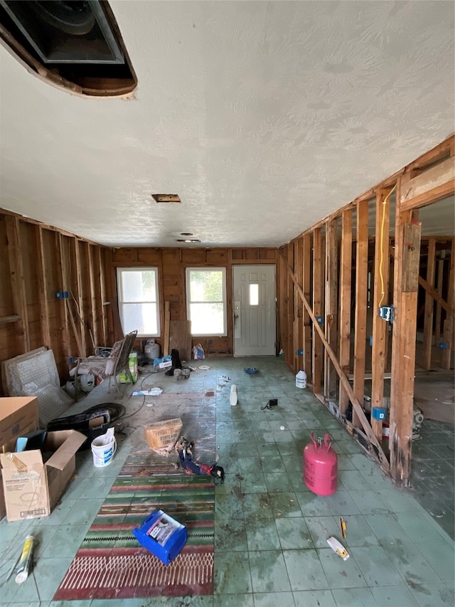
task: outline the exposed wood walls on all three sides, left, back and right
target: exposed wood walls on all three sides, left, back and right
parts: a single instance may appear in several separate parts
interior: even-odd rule
[[[394,218],[393,302],[387,302],[395,307],[389,446],[392,477],[397,482],[406,484],[412,457],[410,436],[419,285],[436,302],[433,303],[433,307],[436,305],[435,337],[446,344],[442,354],[444,364],[450,365],[454,347],[454,238],[448,236],[444,239],[447,242],[447,256],[437,262],[436,284],[434,277],[431,280],[432,273],[436,273],[434,267],[427,270],[426,280],[419,275],[419,253],[416,253],[417,246],[420,246],[419,224],[416,221],[419,207],[433,204],[455,192],[454,142],[455,137],[450,137],[381,184],[358,196],[343,209],[321,219],[294,241],[283,246],[280,254],[275,248],[112,250],[56,230],[52,226],[0,210],[0,361],[48,342],[44,345],[53,349],[63,382],[68,374],[70,356],[91,354],[94,344],[112,345],[115,339],[122,337],[117,307],[116,269],[147,266],[159,268],[161,335],[164,335],[165,302],[169,305],[171,321],[186,320],[186,268],[226,268],[228,336],[210,339],[210,343],[208,339],[194,336],[193,344],[201,342],[208,357],[230,355],[233,348],[232,266],[275,264],[277,342],[284,350],[285,361],[294,371],[304,362],[307,375],[311,377],[312,389],[323,403],[327,405],[338,398],[339,403],[335,404],[341,411],[341,421],[346,430],[357,437],[378,458],[382,468],[387,470],[389,463],[380,440],[362,408],[367,364],[368,206],[375,196],[380,206],[390,188],[398,183]],[[353,218],[356,233],[355,264],[349,269],[348,266],[352,265],[349,261],[352,252],[349,233],[352,233]],[[340,220],[341,241],[338,238]],[[389,231],[388,226],[387,229],[381,228],[377,221],[377,249],[381,233],[384,246],[384,265],[381,265],[381,270],[385,275],[389,268]],[[429,244],[429,258],[430,255],[434,258],[432,251],[434,246],[437,249],[438,243],[439,238],[435,238],[434,245],[432,242]],[[339,288],[338,246],[341,247]],[[373,257],[370,257],[371,260]],[[376,256],[373,305],[378,304],[382,295],[378,292],[378,263]],[[354,302],[351,301],[352,289],[348,285],[351,273],[355,276]],[[446,275],[449,280],[446,280]],[[55,293],[60,290],[68,290],[70,297],[57,299]],[[384,290],[388,291],[388,288]],[[429,312],[430,307],[430,303],[426,304],[425,310]],[[348,310],[353,310],[354,320],[353,354],[350,357],[348,334],[351,332],[351,319]],[[319,324],[319,317],[325,323],[323,328]],[[426,322],[429,327],[431,322]],[[441,326],[442,332],[438,328]],[[373,344],[380,344],[384,327],[388,328],[385,321],[379,323],[376,320]],[[426,339],[428,344],[429,329]],[[163,340],[157,341],[163,347]],[[378,403],[381,400],[386,360],[385,357],[381,358],[382,353],[386,352],[387,340],[384,341],[384,348],[379,347],[379,351],[373,347],[373,390]],[[136,345],[141,347],[140,340]],[[323,348],[326,352],[325,361]],[[304,350],[303,359],[296,354],[299,349]],[[428,357],[427,354],[425,365],[428,364],[432,364],[432,360],[431,355]],[[353,386],[350,385],[347,374],[352,370]],[[346,398],[353,405],[352,423],[343,416]]]

